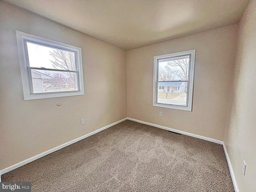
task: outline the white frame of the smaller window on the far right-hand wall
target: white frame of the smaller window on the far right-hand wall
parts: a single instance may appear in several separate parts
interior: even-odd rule
[[[165,58],[173,58],[173,57],[178,57],[178,56],[187,56],[187,55],[190,55],[190,67],[189,67],[189,70],[188,70],[187,103],[186,103],[186,106],[158,103],[157,102],[158,60],[162,60],[162,59],[165,59]],[[176,53],[171,53],[171,54],[164,54],[164,55],[154,56],[153,106],[170,108],[170,109],[185,110],[185,111],[192,111],[195,56],[196,56],[196,50],[188,50],[188,51],[183,51],[183,52],[176,52]]]

